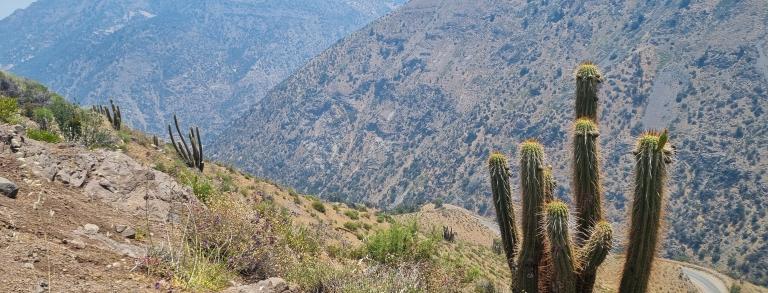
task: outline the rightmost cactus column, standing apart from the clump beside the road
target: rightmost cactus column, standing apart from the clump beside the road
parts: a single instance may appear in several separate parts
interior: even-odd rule
[[[620,292],[645,292],[648,287],[666,197],[667,164],[671,162],[667,138],[666,131],[648,132],[640,137],[635,148],[632,219]]]

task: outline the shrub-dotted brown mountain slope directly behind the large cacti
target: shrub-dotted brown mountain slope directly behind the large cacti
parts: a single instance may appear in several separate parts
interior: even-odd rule
[[[326,198],[492,213],[486,158],[535,137],[568,199],[572,72],[593,60],[610,219],[622,230],[634,137],[669,128],[664,254],[766,284],[766,5],[413,0],[278,85],[212,151]]]

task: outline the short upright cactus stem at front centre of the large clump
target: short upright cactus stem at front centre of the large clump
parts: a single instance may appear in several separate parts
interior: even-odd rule
[[[544,229],[551,256],[551,280],[553,292],[575,293],[576,255],[573,252],[568,232],[568,206],[562,201],[553,201],[545,208]]]

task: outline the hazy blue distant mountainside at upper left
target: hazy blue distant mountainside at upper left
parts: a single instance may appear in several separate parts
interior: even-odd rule
[[[0,67],[135,128],[215,128],[402,0],[39,0],[0,21]]]

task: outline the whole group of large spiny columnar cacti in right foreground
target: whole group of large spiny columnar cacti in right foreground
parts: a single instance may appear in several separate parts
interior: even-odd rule
[[[494,152],[488,160],[496,220],[515,292],[592,292],[597,269],[612,249],[613,231],[603,216],[598,142],[602,74],[595,64],[586,62],[576,70],[575,79],[573,220],[568,205],[554,196],[556,182],[539,142],[529,139],[519,148],[522,235],[515,224],[507,159]],[[637,142],[627,258],[619,292],[647,289],[659,242],[667,164],[672,158],[667,140],[666,131],[649,131]]]

